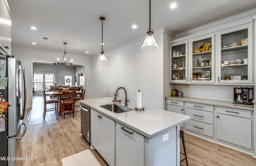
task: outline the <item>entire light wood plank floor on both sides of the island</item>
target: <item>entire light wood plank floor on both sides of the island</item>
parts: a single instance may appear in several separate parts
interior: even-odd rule
[[[22,161],[21,166],[62,166],[61,159],[90,149],[80,136],[80,109],[72,115],[58,117],[55,111],[43,118],[42,95],[33,96],[33,108],[27,109],[25,122],[27,131],[22,138],[22,156],[34,157],[33,161]],[[256,166],[256,158],[249,154],[215,144],[208,140],[184,133],[189,166]],[[182,142],[180,142],[180,149]],[[91,150],[102,166],[107,164],[95,150]],[[183,155],[180,156],[183,158]],[[186,166],[182,162],[181,166]]]

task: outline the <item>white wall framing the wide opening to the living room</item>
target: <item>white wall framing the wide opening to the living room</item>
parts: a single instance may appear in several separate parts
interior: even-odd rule
[[[32,74],[33,74],[33,60],[35,61],[49,61],[56,62],[56,59],[63,56],[63,53],[42,51],[35,49],[28,49],[22,47],[12,47],[12,55],[18,56],[25,67],[26,83],[27,83],[27,108],[32,107]],[[68,54],[70,59],[76,65],[84,65],[86,78],[86,98],[92,98],[92,59],[86,56]]]

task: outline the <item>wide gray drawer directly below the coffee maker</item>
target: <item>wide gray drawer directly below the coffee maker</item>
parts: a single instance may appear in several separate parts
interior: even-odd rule
[[[251,119],[251,111],[250,110],[245,110],[245,109],[233,109],[233,108],[229,108],[229,107],[217,107],[217,113]]]

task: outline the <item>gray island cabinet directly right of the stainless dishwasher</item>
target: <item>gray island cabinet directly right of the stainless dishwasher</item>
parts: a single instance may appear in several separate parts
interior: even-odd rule
[[[114,166],[115,121],[91,109],[91,145]]]

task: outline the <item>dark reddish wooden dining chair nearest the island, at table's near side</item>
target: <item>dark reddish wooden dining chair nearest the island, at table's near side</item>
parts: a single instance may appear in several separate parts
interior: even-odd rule
[[[61,103],[61,115],[63,113],[63,117],[65,119],[65,112],[69,112],[73,114],[75,112],[75,95],[76,91],[62,91],[62,100]]]

